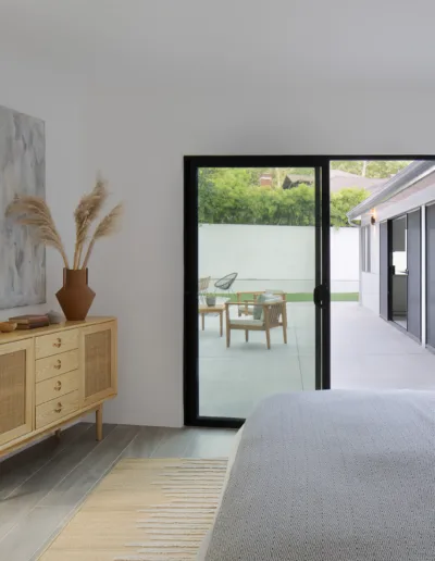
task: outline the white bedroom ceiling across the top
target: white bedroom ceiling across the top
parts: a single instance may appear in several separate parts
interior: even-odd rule
[[[433,0],[0,0],[2,57],[157,87],[435,85]]]

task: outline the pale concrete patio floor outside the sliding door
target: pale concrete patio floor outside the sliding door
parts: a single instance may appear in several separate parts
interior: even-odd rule
[[[246,417],[270,394],[314,389],[314,307],[287,304],[288,344],[281,328],[265,335],[232,332],[231,348],[219,319],[206,316],[199,336],[200,414]],[[435,356],[356,302],[332,303],[332,388],[435,390]]]

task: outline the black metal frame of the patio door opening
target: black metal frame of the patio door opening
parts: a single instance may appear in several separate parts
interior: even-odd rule
[[[322,389],[331,389],[330,165],[352,160],[434,160],[426,154],[185,155],[184,157],[184,417],[185,425],[239,427],[244,419],[199,416],[198,392],[198,167],[319,167],[322,178]],[[316,349],[319,352],[319,349]],[[319,379],[316,378],[316,384]]]

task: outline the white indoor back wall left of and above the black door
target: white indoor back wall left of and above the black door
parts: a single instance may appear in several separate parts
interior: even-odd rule
[[[126,202],[123,234],[100,246],[90,271],[95,310],[120,317],[120,397],[109,421],[183,423],[185,154],[435,152],[427,89],[286,90],[260,79],[208,89],[198,80],[189,90],[154,82],[88,97],[88,177],[102,170]]]

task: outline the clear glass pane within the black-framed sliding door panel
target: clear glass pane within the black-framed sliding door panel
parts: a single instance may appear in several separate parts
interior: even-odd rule
[[[202,167],[198,194],[199,414],[246,417],[315,389],[314,169]]]

